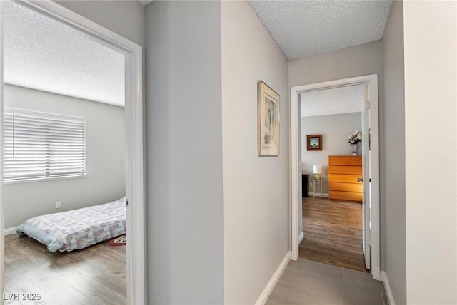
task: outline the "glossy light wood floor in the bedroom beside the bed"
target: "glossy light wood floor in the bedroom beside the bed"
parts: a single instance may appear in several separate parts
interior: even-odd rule
[[[4,257],[5,304],[126,304],[125,246],[103,242],[51,253],[36,240],[13,234],[5,236]],[[24,300],[23,294],[39,294],[40,300]]]

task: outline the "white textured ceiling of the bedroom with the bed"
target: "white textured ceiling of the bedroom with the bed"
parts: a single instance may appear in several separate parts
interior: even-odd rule
[[[124,54],[5,2],[4,81],[124,106]]]

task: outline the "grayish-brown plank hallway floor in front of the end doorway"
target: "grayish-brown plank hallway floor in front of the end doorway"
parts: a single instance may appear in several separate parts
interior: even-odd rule
[[[266,305],[388,305],[371,274],[298,258],[290,261]]]

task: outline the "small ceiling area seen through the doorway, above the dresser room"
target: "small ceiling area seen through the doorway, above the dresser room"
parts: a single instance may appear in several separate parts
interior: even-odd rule
[[[364,85],[301,93],[301,117],[361,112],[364,96]]]

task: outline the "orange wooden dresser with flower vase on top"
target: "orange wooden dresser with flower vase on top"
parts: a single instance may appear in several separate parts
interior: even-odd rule
[[[362,157],[357,155],[328,156],[328,199],[362,202]]]

